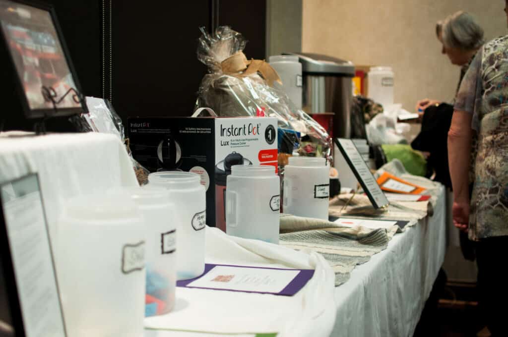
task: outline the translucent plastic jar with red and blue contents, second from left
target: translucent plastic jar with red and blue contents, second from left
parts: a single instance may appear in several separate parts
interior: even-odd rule
[[[176,222],[169,191],[162,187],[130,190],[145,221],[145,316],[166,314],[175,304]]]

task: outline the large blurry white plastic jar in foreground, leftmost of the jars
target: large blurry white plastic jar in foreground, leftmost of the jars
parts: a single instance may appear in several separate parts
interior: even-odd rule
[[[145,240],[128,191],[69,201],[59,221],[57,258],[69,336],[143,335]]]

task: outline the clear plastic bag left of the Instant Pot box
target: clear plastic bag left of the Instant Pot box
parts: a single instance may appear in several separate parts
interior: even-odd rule
[[[109,100],[97,97],[86,97],[87,114],[70,117],[70,121],[82,132],[110,133],[117,136],[125,144],[127,153],[131,157],[134,172],[140,185],[148,183],[150,173],[131,154],[129,139],[125,138],[125,128],[122,119],[113,109]]]

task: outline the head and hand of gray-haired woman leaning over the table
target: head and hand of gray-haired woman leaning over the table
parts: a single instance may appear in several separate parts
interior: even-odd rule
[[[485,42],[483,28],[469,13],[459,11],[437,22],[436,36],[442,44],[441,53],[446,54],[452,64],[461,66],[458,91],[469,64]],[[425,109],[440,103],[435,99],[421,99],[416,105],[416,110],[422,115]]]

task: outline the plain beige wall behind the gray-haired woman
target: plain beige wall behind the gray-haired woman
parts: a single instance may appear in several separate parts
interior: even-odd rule
[[[303,0],[302,51],[361,65],[390,65],[395,103],[414,111],[421,98],[450,101],[460,70],[441,54],[435,23],[473,14],[490,40],[505,35],[502,0]]]

